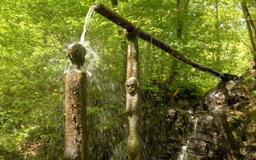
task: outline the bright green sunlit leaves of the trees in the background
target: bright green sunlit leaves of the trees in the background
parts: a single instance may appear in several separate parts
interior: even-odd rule
[[[63,50],[67,44],[79,41],[85,15],[93,2],[99,1],[0,2],[0,137],[9,134],[13,138],[0,138],[0,145],[5,142],[9,151],[13,149],[11,144],[17,144],[33,134],[51,137],[44,131],[53,130],[63,120],[61,99],[66,62]],[[111,7],[111,1],[101,2]],[[215,29],[214,1],[189,1],[188,11],[182,16],[177,14],[176,2],[120,0],[114,10],[199,63],[236,74],[251,66],[240,1],[219,1],[219,39]],[[248,4],[254,11],[255,2],[248,1]],[[251,14],[256,17],[255,13]],[[177,39],[177,19],[185,23],[182,42]],[[97,62],[100,62],[101,74],[105,74],[102,78],[124,84],[127,39],[123,29],[96,14],[85,39],[90,41],[95,51],[101,53]],[[221,43],[220,62],[215,61],[217,41]],[[143,88],[156,90],[150,86],[152,82],[164,82],[175,71],[171,70],[175,63],[173,57],[142,40],[139,40],[139,56]],[[195,83],[206,91],[218,80],[183,63],[175,65],[179,65],[179,75],[171,87]],[[89,93],[91,99],[99,98],[99,95],[99,99],[107,97],[93,87]],[[109,109],[120,106],[103,105]],[[124,111],[120,108],[109,112]],[[100,107],[89,107],[88,110],[91,115],[101,116]],[[105,124],[103,127],[109,127],[113,122],[106,121]]]

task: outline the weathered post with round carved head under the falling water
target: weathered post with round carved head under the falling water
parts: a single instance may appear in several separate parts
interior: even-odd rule
[[[85,63],[83,45],[69,45],[68,57],[73,69],[66,75],[65,95],[65,151],[66,160],[85,160],[87,151],[86,97],[87,76],[81,67]]]

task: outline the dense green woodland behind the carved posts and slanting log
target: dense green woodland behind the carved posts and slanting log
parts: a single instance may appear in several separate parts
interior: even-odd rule
[[[97,2],[0,2],[0,159],[62,156],[64,80],[69,68],[65,49],[80,41],[85,15]],[[221,73],[241,75],[253,67],[253,49],[241,3],[247,5],[251,17],[256,17],[256,1],[101,2],[191,59]],[[105,129],[116,127],[115,117],[127,121],[127,41],[121,27],[97,13],[85,39],[91,49],[85,65],[90,82],[89,123],[94,124],[89,128],[92,134],[97,133],[97,139]],[[144,99],[149,93],[157,102],[167,96],[168,101],[201,97],[219,81],[145,41],[139,40],[139,52]]]

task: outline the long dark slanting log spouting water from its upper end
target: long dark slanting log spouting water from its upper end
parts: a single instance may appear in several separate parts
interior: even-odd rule
[[[123,17],[121,17],[120,15],[115,13],[114,11],[112,11],[111,9],[105,7],[105,5],[103,5],[101,3],[98,3],[97,5],[95,5],[95,11],[97,13],[103,15],[104,17],[106,17],[107,19],[112,21],[113,23],[116,23],[117,25],[123,27],[124,29],[126,29],[129,32],[135,30],[135,28],[136,28],[132,23],[130,23],[129,21],[127,21],[126,19],[124,19]],[[184,63],[187,63],[188,65],[191,65],[192,67],[194,67],[196,69],[199,69],[201,71],[207,71],[217,77],[220,77],[221,79],[225,79],[225,76],[222,73],[219,73],[218,71],[216,71],[215,69],[212,69],[211,67],[207,67],[205,65],[202,65],[200,63],[193,61],[186,55],[183,55],[182,53],[177,51],[177,49],[173,49],[172,47],[167,45],[167,43],[165,43],[161,39],[158,39],[157,37],[151,35],[150,33],[143,31],[142,29],[139,29],[139,37],[141,39],[144,39],[145,41],[148,41],[149,43],[155,45],[156,47],[159,47],[159,49],[162,49],[163,51],[169,53],[170,55],[173,55],[177,59],[183,61]]]

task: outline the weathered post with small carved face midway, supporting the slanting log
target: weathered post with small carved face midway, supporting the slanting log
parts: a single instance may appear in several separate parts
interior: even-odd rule
[[[128,39],[126,113],[129,119],[128,160],[145,159],[141,139],[141,85],[139,82],[139,30],[126,31]]]

